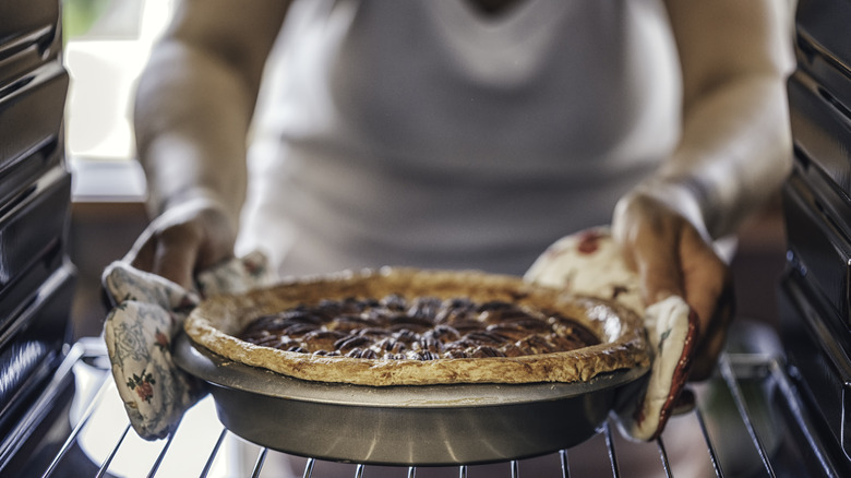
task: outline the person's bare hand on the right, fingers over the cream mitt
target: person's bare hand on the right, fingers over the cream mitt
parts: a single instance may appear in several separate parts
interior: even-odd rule
[[[698,231],[681,211],[682,204],[672,206],[654,194],[633,192],[619,202],[612,234],[627,265],[640,278],[645,303],[676,295],[697,314],[699,333],[690,380],[705,380],[732,320],[732,277],[708,235]]]

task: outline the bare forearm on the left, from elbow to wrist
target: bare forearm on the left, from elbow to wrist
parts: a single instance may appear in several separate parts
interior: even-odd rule
[[[215,57],[175,41],[154,50],[134,111],[154,216],[206,195],[237,220],[254,98],[243,76]]]

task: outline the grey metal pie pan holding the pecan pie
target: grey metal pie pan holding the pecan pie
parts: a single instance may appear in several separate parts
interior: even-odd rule
[[[225,359],[181,334],[177,365],[212,386],[219,420],[280,452],[337,462],[440,466],[519,459],[576,445],[615,391],[648,368],[582,383],[363,386],[309,382]]]

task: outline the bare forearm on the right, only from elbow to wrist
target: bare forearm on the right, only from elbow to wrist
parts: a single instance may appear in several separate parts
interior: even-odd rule
[[[696,98],[657,180],[688,189],[700,220],[718,238],[777,191],[791,164],[784,83],[752,75]]]

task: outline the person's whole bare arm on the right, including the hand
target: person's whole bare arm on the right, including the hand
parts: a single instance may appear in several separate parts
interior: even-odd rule
[[[777,191],[791,168],[784,2],[667,0],[683,73],[681,141],[623,198],[613,231],[648,303],[680,295],[700,320],[693,377],[705,378],[732,314],[727,264],[711,242]]]

